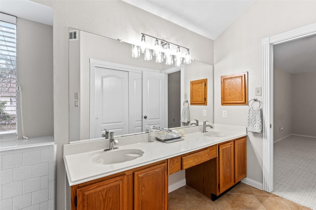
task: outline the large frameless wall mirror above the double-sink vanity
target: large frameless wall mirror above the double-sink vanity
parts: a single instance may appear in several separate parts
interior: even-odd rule
[[[174,67],[131,56],[131,44],[70,28],[70,141],[139,134],[150,126],[213,122],[213,66]],[[190,81],[207,78],[207,105],[190,105]],[[186,103],[188,101],[188,103]],[[183,106],[190,120],[181,122]]]

